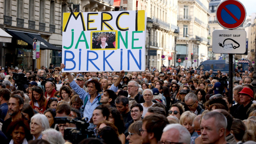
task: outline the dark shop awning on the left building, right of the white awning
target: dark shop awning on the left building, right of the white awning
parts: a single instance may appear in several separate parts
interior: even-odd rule
[[[38,42],[40,42],[40,49],[50,49],[50,50],[61,50],[61,47],[56,47],[50,43],[48,43],[46,40],[44,40],[40,34],[38,33],[30,33],[25,31],[18,31],[18,30],[11,30],[6,29],[6,31],[13,36],[13,38],[17,40],[22,40],[27,43],[31,49],[33,48],[33,39],[36,38]]]

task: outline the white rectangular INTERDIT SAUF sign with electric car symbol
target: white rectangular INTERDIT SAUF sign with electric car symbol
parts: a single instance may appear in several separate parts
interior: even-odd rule
[[[243,54],[245,50],[245,30],[214,30],[212,32],[213,53]]]

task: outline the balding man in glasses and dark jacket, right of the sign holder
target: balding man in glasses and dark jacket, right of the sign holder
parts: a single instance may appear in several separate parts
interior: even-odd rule
[[[145,102],[143,95],[139,94],[139,84],[136,81],[129,81],[127,88],[128,94],[131,96],[130,98],[135,99],[138,103]]]

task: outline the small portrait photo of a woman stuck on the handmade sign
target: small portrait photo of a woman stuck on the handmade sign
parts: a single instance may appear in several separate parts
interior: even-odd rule
[[[97,43],[93,42],[93,49],[115,48],[113,42],[109,40],[109,36],[106,33],[99,34]]]

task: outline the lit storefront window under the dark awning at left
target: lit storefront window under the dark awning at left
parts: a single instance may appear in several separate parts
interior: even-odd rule
[[[32,49],[16,48],[16,66],[26,71],[32,69]]]

